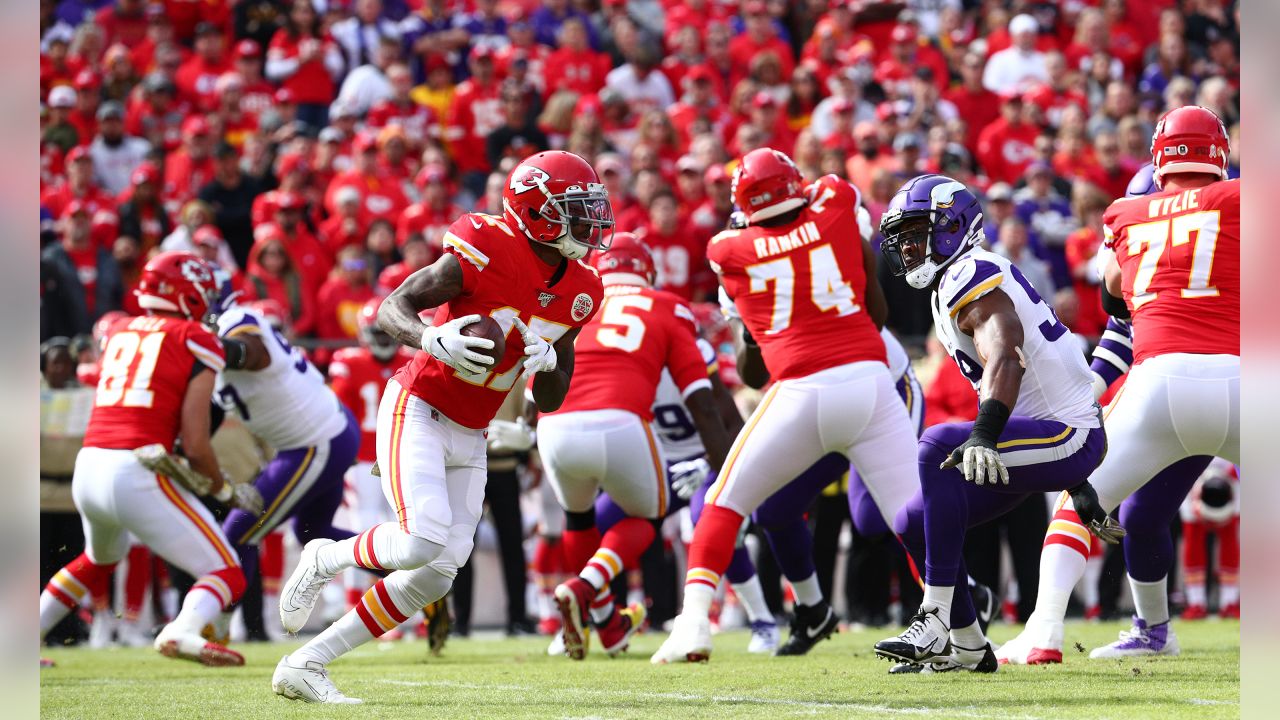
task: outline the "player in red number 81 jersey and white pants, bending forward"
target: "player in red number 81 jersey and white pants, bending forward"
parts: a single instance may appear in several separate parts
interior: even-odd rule
[[[155,648],[204,665],[244,664],[241,653],[201,637],[239,600],[244,574],[212,514],[180,480],[195,478],[219,502],[261,510],[252,486],[224,479],[209,442],[214,374],[225,360],[201,320],[216,291],[211,265],[189,252],[161,252],[142,269],[134,291],[147,314],[119,318],[102,334],[101,378],[72,478],[86,547],[40,594],[41,639],[87,593],[108,591],[132,533],[196,578]],[[168,456],[175,438],[189,462],[186,473],[174,470],[175,478],[150,470],[134,454],[159,446]]]

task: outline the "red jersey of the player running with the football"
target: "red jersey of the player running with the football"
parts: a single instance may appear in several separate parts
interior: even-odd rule
[[[539,260],[525,236],[497,215],[468,213],[458,218],[444,233],[444,251],[457,256],[462,266],[462,293],[435,309],[433,324],[489,315],[507,331],[507,352],[479,377],[417,352],[396,373],[396,380],[454,423],[483,429],[524,374],[525,343],[515,332],[516,315],[554,343],[591,319],[604,288],[595,270],[581,260],[558,265]]]

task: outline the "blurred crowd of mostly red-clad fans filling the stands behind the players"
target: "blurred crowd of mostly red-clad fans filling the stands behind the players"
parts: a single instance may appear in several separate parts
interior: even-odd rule
[[[41,0],[40,31],[50,395],[96,361],[99,318],[141,314],[132,288],[161,250],[195,251],[243,297],[275,301],[325,368],[356,343],[369,299],[439,258],[463,211],[500,214],[509,168],[545,149],[596,168],[617,229],[654,251],[658,286],[696,304],[716,300],[705,245],[733,209],[733,158],[772,146],[806,179],[841,176],[873,225],[905,179],[952,176],[983,191],[991,247],[1092,343],[1106,325],[1102,213],[1149,160],[1158,117],[1210,108],[1233,177],[1240,152],[1235,0]],[[924,341],[927,295],[881,282],[890,327],[920,356],[928,421],[972,419],[968,383]],[[42,474],[65,480],[69,446],[46,445]],[[524,537],[520,484],[502,488],[490,505]],[[46,516],[69,510],[58,497]],[[970,539],[974,577],[996,585],[989,548],[1006,538],[1023,591],[1009,612],[1023,618],[1047,525],[1030,505]],[[832,594],[840,488],[812,519]],[[67,542],[50,528],[49,547]],[[507,546],[518,583],[525,551]],[[887,621],[891,588],[911,592],[891,580],[908,578],[901,553],[856,536],[846,550],[851,619]],[[49,555],[51,569],[65,560]],[[650,555],[649,575],[672,562],[660,538]],[[669,574],[646,577],[667,618]],[[1121,575],[1108,573],[1116,592]],[[780,605],[780,583],[765,584]],[[524,588],[508,594],[508,629],[526,629]],[[1100,602],[1115,598],[1085,593]]]

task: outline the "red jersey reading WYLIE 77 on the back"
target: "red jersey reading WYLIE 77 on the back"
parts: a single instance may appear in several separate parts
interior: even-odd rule
[[[1240,181],[1116,200],[1102,217],[1133,313],[1133,364],[1240,354]]]

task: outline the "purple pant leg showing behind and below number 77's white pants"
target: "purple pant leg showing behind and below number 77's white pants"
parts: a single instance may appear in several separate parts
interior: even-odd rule
[[[1124,561],[1129,577],[1153,583],[1169,575],[1178,557],[1170,525],[1187,493],[1213,459],[1184,457],[1165,468],[1120,503],[1124,525]]]

